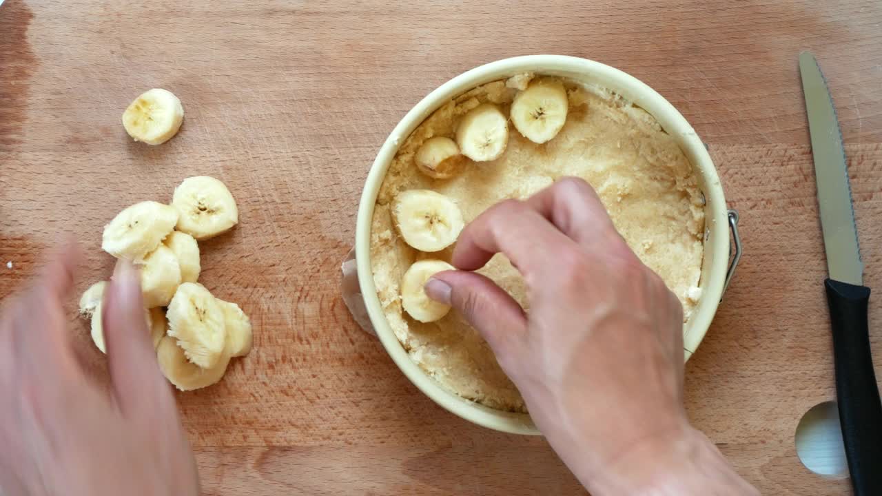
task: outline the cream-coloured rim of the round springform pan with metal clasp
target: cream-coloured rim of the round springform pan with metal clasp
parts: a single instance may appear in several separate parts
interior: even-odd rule
[[[377,194],[380,185],[383,184],[386,170],[389,169],[389,164],[398,151],[399,145],[411,132],[414,132],[426,117],[445,102],[476,86],[525,72],[557,76],[588,85],[602,86],[621,94],[633,104],[652,114],[662,125],[662,129],[676,140],[692,167],[695,168],[699,177],[699,185],[705,193],[706,233],[704,261],[699,282],[702,293],[691,318],[684,324],[684,352],[687,360],[699,346],[707,328],[711,325],[711,320],[714,319],[717,305],[721,301],[723,291],[728,285],[729,277],[731,277],[740,256],[740,243],[736,237],[737,214],[727,210],[726,199],[723,196],[720,178],[714,169],[714,162],[711,161],[704,143],[699,139],[692,126],[661,94],[656,93],[639,79],[609,65],[572,56],[536,55],[506,58],[482,65],[447,81],[407,112],[407,115],[395,126],[392,134],[380,148],[377,158],[370,168],[358,208],[355,228],[355,259],[358,267],[358,280],[371,324],[373,324],[377,336],[389,356],[392,357],[392,361],[399,366],[407,379],[446,410],[477,425],[497,431],[538,434],[539,432],[529,415],[495,410],[469,401],[441,387],[423,372],[410,359],[407,351],[392,333],[377,297],[377,289],[370,266],[370,225],[374,206],[377,203]],[[736,245],[735,258],[731,266],[729,265],[731,255],[729,248],[730,226],[735,234]]]

